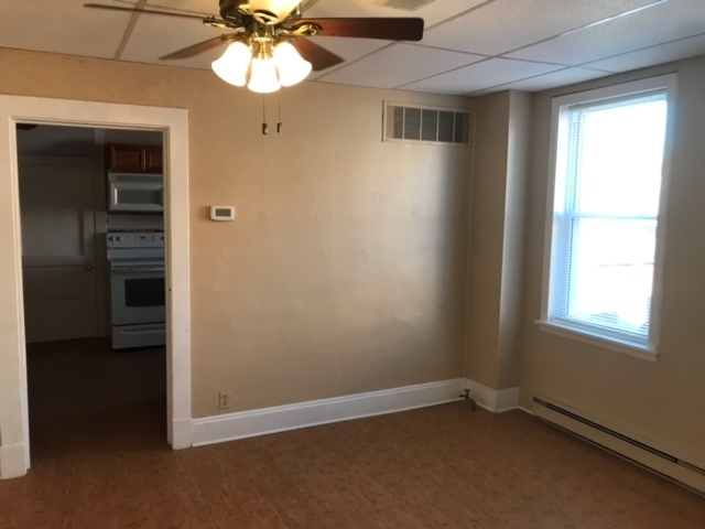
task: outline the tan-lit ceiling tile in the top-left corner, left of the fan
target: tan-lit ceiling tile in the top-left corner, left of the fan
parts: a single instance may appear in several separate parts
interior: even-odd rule
[[[112,57],[130,13],[84,9],[82,2],[0,2],[0,47]]]

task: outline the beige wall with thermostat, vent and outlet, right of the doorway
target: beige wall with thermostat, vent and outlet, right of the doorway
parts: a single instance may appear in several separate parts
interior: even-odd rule
[[[9,50],[0,71],[2,94],[188,109],[194,417],[218,390],[238,411],[463,375],[470,150],[380,138],[384,99],[471,101],[306,83],[263,137],[261,98],[208,72]]]

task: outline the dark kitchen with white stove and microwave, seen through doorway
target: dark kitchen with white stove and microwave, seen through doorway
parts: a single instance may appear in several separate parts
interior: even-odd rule
[[[162,133],[18,129],[32,434],[135,407],[162,430]]]

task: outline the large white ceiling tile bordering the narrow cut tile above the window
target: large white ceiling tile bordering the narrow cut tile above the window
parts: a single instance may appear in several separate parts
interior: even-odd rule
[[[705,32],[703,0],[671,0],[508,54],[567,65],[606,58]]]

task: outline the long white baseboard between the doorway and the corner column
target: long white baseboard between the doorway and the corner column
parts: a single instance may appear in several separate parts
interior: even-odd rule
[[[465,379],[457,378],[194,419],[193,445],[203,446],[452,402],[458,400]]]

